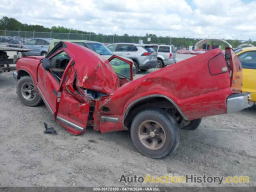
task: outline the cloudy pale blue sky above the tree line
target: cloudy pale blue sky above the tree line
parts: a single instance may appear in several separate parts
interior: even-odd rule
[[[102,34],[256,40],[252,0],[1,0],[0,16]]]

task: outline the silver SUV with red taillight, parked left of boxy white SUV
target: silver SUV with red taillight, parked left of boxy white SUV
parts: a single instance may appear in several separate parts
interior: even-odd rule
[[[147,71],[157,66],[157,53],[151,45],[113,43],[108,48],[116,55],[132,59],[136,73],[139,69],[141,71]]]

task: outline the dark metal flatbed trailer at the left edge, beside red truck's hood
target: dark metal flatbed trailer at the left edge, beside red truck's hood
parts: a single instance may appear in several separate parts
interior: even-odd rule
[[[9,58],[8,52],[17,52],[17,55],[14,55],[14,58]],[[32,51],[31,49],[26,48],[26,46],[21,44],[5,44],[0,43],[0,74],[2,72],[9,72],[16,70],[15,65],[18,58],[22,57],[22,52]]]

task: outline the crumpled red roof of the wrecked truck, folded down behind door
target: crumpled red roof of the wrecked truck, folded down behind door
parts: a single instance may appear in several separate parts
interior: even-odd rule
[[[71,42],[64,42],[74,54],[77,86],[103,94],[112,94],[119,87],[119,79],[108,62],[99,54]]]

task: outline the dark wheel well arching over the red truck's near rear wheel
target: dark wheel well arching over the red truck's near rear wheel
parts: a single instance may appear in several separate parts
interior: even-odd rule
[[[174,106],[170,100],[156,96],[140,100],[133,104],[130,109],[128,107],[128,112],[126,112],[126,115],[124,116],[124,126],[130,128],[134,117],[142,110],[149,108],[161,108],[175,116],[175,118],[178,117],[179,119],[183,119],[176,106]]]

